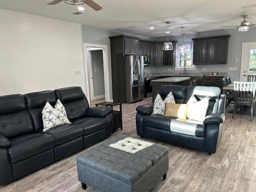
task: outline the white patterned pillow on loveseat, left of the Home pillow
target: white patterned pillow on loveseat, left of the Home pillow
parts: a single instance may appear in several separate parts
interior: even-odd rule
[[[172,94],[172,92],[170,92],[166,98],[164,99],[164,101],[162,100],[162,97],[160,96],[160,94],[157,94],[155,101],[154,101],[154,107],[153,107],[153,113],[154,115],[164,115],[164,110],[165,110],[165,105],[164,103],[174,103],[175,104],[175,100],[174,100],[174,96]]]

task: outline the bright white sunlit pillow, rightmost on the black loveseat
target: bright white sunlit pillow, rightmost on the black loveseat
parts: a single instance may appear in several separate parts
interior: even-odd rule
[[[188,100],[187,118],[203,122],[209,106],[209,97],[197,101],[194,94]]]

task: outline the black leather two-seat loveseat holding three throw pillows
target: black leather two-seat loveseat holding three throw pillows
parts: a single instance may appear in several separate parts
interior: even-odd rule
[[[202,99],[209,96],[209,106],[204,122],[180,120],[162,115],[152,115],[153,104],[136,108],[137,134],[212,154],[222,138],[222,123],[225,119],[226,95],[220,88],[204,86],[161,86],[159,93],[164,99],[172,92],[176,103],[187,103],[192,94]]]

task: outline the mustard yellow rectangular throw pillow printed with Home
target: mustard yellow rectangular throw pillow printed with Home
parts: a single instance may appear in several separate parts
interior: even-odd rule
[[[187,104],[165,103],[164,116],[186,119],[187,109],[188,109]]]

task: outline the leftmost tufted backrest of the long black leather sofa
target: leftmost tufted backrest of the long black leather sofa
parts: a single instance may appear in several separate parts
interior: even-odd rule
[[[0,135],[8,139],[34,133],[32,118],[21,94],[0,97]]]

